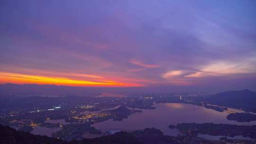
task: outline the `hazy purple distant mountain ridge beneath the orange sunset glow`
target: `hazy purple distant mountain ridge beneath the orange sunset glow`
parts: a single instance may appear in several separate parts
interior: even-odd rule
[[[61,86],[52,84],[0,84],[0,95],[76,95],[76,96],[99,96],[102,93],[114,93],[118,95],[143,95],[152,93],[151,87],[82,87]],[[154,90],[155,92],[155,90]],[[157,90],[156,90],[157,92]],[[173,94],[158,90],[160,94]]]

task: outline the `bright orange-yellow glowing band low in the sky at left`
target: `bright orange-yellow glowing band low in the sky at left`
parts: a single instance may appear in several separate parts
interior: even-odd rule
[[[0,83],[37,83],[37,84],[55,84],[68,86],[102,86],[102,87],[138,87],[141,84],[122,83],[117,81],[84,81],[74,80],[63,77],[47,77],[37,75],[27,75],[19,73],[0,72]]]

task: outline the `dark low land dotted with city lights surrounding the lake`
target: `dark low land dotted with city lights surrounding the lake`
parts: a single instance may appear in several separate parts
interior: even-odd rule
[[[234,97],[234,93],[247,95],[255,95],[250,90],[229,91],[224,92],[226,97]],[[93,124],[113,119],[114,121],[122,121],[134,113],[141,113],[143,109],[154,109],[154,103],[185,103],[192,104],[218,112],[229,113],[228,120],[238,122],[249,122],[255,120],[255,105],[244,105],[236,103],[220,103],[218,97],[223,93],[217,94],[146,94],[141,96],[122,96],[122,97],[97,97],[97,96],[21,96],[10,93],[2,94],[0,99],[0,124],[11,126],[18,131],[30,133],[35,127],[59,128],[58,131],[51,136],[68,142],[82,141],[84,133],[97,135],[135,135],[142,138],[145,135],[157,135],[156,137],[165,137],[165,141],[175,141],[184,144],[193,141],[194,144],[225,144],[225,142],[252,144],[256,139],[256,126],[238,126],[228,124],[213,123],[181,123],[176,126],[170,124],[169,128],[177,128],[180,135],[177,137],[163,135],[158,129],[146,129],[136,132],[121,133],[120,131],[101,131],[94,128]],[[254,98],[255,99],[255,98]],[[238,108],[244,110],[244,113],[236,113],[229,108]],[[66,124],[49,123],[49,120],[64,119]],[[5,127],[6,130],[14,131]],[[157,134],[155,134],[157,132]],[[18,133],[18,132],[17,132]],[[140,134],[138,136],[137,134]],[[147,134],[150,133],[150,134]],[[152,134],[151,134],[152,133]],[[23,134],[23,133],[20,133]],[[223,138],[217,141],[206,140],[197,137],[198,134],[222,135]],[[28,135],[28,134],[26,134]],[[251,140],[236,140],[225,138],[242,135],[249,137]],[[109,138],[109,137],[106,137]],[[144,138],[142,138],[144,139]],[[161,138],[162,139],[162,138]],[[88,140],[89,141],[89,140]],[[92,141],[92,140],[91,140]],[[145,140],[141,140],[145,142]],[[193,143],[192,143],[193,144]]]

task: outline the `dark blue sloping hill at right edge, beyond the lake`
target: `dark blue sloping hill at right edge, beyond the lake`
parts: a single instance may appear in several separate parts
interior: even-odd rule
[[[206,102],[256,112],[256,92],[251,90],[225,91],[205,99]]]

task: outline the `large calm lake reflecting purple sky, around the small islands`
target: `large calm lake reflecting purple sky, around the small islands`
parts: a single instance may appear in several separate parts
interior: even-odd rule
[[[143,109],[142,113],[136,113],[128,116],[123,121],[113,121],[112,119],[94,124],[97,129],[126,129],[136,130],[150,127],[161,129],[165,135],[177,135],[176,129],[168,128],[170,124],[178,123],[223,123],[236,125],[252,125],[256,122],[238,123],[227,120],[228,113],[218,112],[212,109],[203,108],[191,104],[181,103],[160,103],[154,105],[155,109]]]

